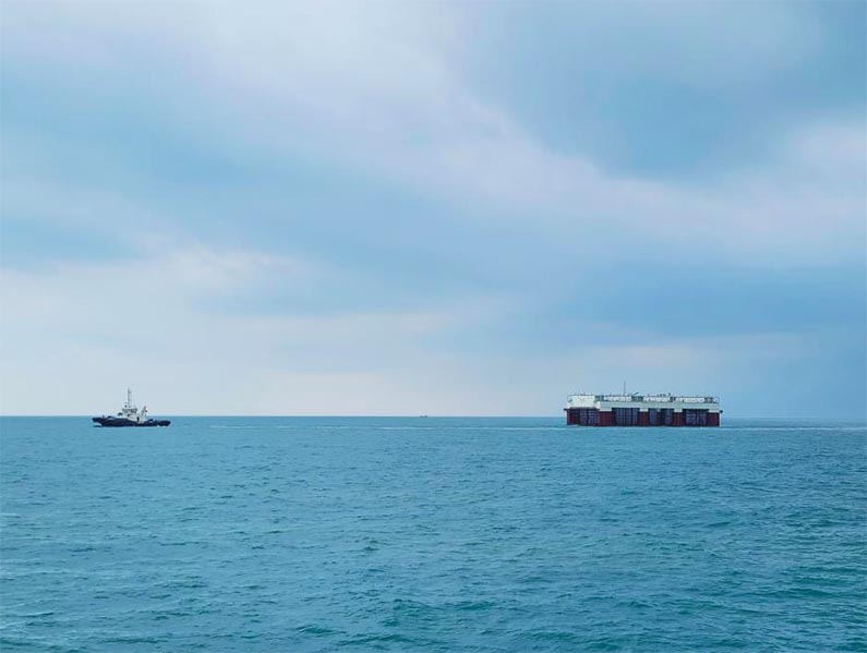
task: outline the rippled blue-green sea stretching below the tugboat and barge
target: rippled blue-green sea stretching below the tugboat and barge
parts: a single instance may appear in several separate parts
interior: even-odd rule
[[[867,426],[0,420],[0,650],[867,651]]]

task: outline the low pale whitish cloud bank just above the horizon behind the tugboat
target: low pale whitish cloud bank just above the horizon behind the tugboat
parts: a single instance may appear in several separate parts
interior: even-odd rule
[[[238,313],[231,301],[263,280],[278,281],[272,299],[291,302],[342,273],[194,244],[146,252],[2,273],[1,351],[16,371],[4,379],[5,407],[38,413],[48,394],[53,411],[105,410],[94,397],[123,379],[168,412],[447,412],[442,397],[423,400],[436,366],[424,343],[496,310],[479,298],[421,311]],[[352,291],[351,278],[342,283]]]

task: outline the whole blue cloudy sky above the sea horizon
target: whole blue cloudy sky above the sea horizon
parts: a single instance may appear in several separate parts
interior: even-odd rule
[[[0,411],[867,412],[864,2],[0,3]]]

